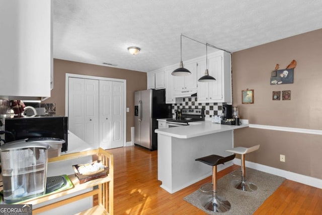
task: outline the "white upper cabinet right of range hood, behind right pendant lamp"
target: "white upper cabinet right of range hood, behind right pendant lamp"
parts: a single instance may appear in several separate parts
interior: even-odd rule
[[[230,54],[217,51],[208,54],[209,75],[215,82],[199,82],[197,88],[198,102],[231,102],[231,64]],[[206,59],[198,62],[198,79],[204,76]]]

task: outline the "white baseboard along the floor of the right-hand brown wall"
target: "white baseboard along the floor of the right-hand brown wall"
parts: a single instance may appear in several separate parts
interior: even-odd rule
[[[235,158],[233,160],[233,164],[240,166],[240,159]],[[299,182],[302,184],[306,184],[306,185],[309,185],[312,187],[317,187],[319,189],[322,189],[322,180],[318,179],[318,178],[313,178],[310,176],[305,176],[305,175],[301,175],[298,173],[293,173],[290,171],[281,170],[281,169],[277,169],[274,167],[269,167],[269,166],[265,166],[262,164],[253,163],[250,161],[245,161],[245,165],[246,165],[246,167],[249,167],[251,169],[255,169],[255,170],[270,173],[273,175],[281,176],[281,177],[286,178],[291,181],[296,181],[296,182]]]

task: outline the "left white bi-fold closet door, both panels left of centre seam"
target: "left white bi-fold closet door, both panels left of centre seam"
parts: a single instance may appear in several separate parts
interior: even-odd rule
[[[68,79],[68,127],[93,148],[99,146],[99,81]]]

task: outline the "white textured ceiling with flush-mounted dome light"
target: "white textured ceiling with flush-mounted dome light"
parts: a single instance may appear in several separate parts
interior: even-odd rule
[[[180,62],[180,35],[235,52],[322,28],[320,0],[54,0],[53,56],[151,71]],[[206,54],[182,38],[183,61]],[[141,51],[131,55],[129,46]],[[216,49],[208,47],[208,52]]]

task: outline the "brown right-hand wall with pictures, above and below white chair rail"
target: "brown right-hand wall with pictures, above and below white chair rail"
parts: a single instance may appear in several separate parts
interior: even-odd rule
[[[269,33],[269,32],[268,32]],[[232,54],[233,106],[250,124],[322,129],[322,29]],[[295,59],[293,84],[270,85],[271,71]],[[254,104],[241,104],[241,91],[254,89]],[[273,91],[291,91],[291,100],[273,101]],[[261,144],[247,160],[322,179],[320,135],[258,128],[237,129],[235,146]],[[279,161],[285,155],[286,162]]]

